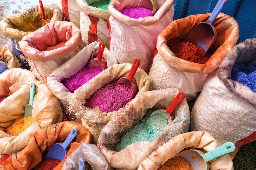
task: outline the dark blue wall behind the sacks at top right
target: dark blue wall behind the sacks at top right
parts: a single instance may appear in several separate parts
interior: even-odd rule
[[[173,19],[211,13],[217,2],[218,0],[176,0]],[[228,0],[221,12],[236,19],[239,25],[237,43],[256,38],[256,0]]]

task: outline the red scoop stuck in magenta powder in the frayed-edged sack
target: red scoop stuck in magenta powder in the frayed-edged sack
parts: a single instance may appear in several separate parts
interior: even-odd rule
[[[132,64],[132,68],[128,74],[127,77],[122,77],[120,78],[116,85],[117,84],[120,84],[120,83],[124,83],[127,87],[129,88],[132,88],[132,96],[131,96],[131,99],[133,98],[133,96],[136,94],[137,92],[137,89],[138,89],[138,86],[137,86],[137,83],[136,83],[136,80],[133,78],[135,72],[137,71],[138,67],[140,66],[140,60],[139,59],[135,59],[133,61],[133,64]],[[131,100],[130,99],[130,100]]]

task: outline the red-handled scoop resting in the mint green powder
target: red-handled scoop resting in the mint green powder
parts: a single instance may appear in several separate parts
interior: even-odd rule
[[[172,122],[172,120],[174,119],[174,116],[171,115],[172,112],[176,109],[176,107],[182,102],[184,98],[185,98],[185,94],[183,92],[179,92],[166,110],[165,109],[156,110],[149,117],[153,115],[163,115],[166,118],[167,124],[169,124],[169,122]],[[147,120],[145,121],[145,123],[147,123]]]

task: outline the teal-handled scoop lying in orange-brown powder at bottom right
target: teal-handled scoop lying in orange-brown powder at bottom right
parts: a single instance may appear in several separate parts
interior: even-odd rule
[[[208,170],[210,168],[210,160],[234,152],[235,149],[236,146],[234,143],[227,142],[207,153],[197,149],[188,149],[180,152],[176,156],[185,158],[193,166],[194,170]]]

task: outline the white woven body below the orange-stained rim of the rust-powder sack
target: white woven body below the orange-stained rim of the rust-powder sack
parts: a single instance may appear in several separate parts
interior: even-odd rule
[[[187,101],[190,101],[199,95],[208,74],[181,72],[170,66],[157,53],[148,75],[152,80],[150,90],[177,88],[184,92]]]

